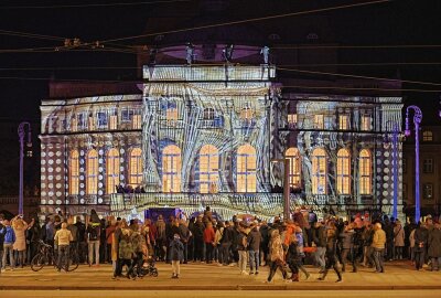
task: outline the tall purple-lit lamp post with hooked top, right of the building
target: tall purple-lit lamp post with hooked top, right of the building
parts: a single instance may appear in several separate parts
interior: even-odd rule
[[[419,148],[419,127],[422,120],[421,109],[417,106],[408,106],[406,109],[406,130],[405,136],[410,136],[409,129],[409,109],[413,109],[413,125],[415,125],[415,222],[418,224],[420,221],[420,148]]]

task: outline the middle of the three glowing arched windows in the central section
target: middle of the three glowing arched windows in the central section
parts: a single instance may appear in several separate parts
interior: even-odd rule
[[[212,145],[205,145],[200,151],[200,192],[216,193],[219,168],[219,151]]]

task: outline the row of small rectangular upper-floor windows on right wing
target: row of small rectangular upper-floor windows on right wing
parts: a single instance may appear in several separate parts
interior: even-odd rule
[[[314,129],[332,129],[334,124],[334,117],[324,116],[322,114],[314,115],[312,127]],[[288,114],[288,125],[290,127],[297,127],[298,115]],[[348,130],[351,129],[351,118],[349,115],[338,115],[338,129]],[[359,129],[364,131],[369,131],[372,129],[372,116],[362,115],[359,119]]]

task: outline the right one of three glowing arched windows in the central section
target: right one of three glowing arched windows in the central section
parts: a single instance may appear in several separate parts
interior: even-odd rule
[[[256,192],[256,149],[249,143],[237,149],[237,192]]]

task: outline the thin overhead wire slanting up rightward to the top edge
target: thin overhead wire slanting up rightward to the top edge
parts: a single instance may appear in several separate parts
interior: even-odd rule
[[[334,11],[334,10],[341,10],[341,9],[349,9],[349,8],[356,8],[356,7],[366,7],[366,6],[373,6],[373,4],[379,4],[379,3],[387,3],[387,2],[392,2],[392,1],[394,0],[375,0],[375,1],[368,1],[368,2],[362,2],[362,3],[352,3],[352,4],[329,7],[329,8],[314,9],[314,10],[297,11],[297,12],[290,12],[290,13],[261,17],[261,18],[251,18],[251,19],[246,19],[246,20],[223,22],[223,23],[217,23],[217,24],[200,25],[200,26],[193,26],[193,28],[175,29],[175,30],[169,30],[169,31],[162,31],[162,32],[155,32],[155,33],[147,33],[147,34],[140,34],[140,35],[132,35],[132,36],[126,36],[126,38],[101,40],[100,43],[104,44],[104,43],[109,43],[109,42],[127,41],[127,40],[136,40],[136,39],[141,39],[141,38],[154,36],[154,35],[159,35],[159,34],[170,34],[170,33],[195,31],[195,30],[209,29],[209,28],[216,28],[216,26],[226,26],[226,25],[234,25],[234,24],[267,21],[267,20],[295,17],[295,15],[304,15],[304,14],[311,14],[311,13],[318,13],[318,12]]]

